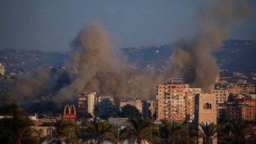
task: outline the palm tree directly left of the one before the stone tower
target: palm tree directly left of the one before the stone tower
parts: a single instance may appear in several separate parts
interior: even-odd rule
[[[161,138],[164,143],[174,144],[179,141],[186,141],[187,132],[182,124],[176,122],[163,121],[160,128]]]

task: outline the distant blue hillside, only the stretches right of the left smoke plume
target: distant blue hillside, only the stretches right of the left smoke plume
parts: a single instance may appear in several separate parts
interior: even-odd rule
[[[139,63],[139,66],[166,65],[169,56],[173,53],[175,46],[142,46],[134,48],[123,48],[129,62]],[[246,71],[256,70],[256,40],[228,40],[224,41],[221,48],[213,52],[221,69],[244,69]]]

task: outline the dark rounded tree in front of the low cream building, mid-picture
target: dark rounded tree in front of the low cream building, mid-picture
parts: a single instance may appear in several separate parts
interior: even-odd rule
[[[121,113],[119,117],[127,117],[127,118],[141,118],[142,115],[140,111],[133,105],[125,105],[121,109]]]

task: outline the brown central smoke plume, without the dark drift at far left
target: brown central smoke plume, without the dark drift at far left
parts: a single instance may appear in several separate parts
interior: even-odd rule
[[[80,92],[97,92],[117,99],[131,94],[150,97],[157,78],[146,79],[146,74],[154,76],[154,73],[137,71],[129,65],[120,49],[110,46],[106,31],[98,24],[92,23],[81,31],[72,43],[72,50],[77,79],[59,92],[56,101],[70,99]]]

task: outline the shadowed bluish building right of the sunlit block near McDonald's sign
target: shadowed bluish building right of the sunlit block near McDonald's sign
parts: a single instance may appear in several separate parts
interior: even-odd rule
[[[98,99],[100,103],[100,116],[108,117],[109,114],[116,112],[115,99],[112,96],[100,96]]]

